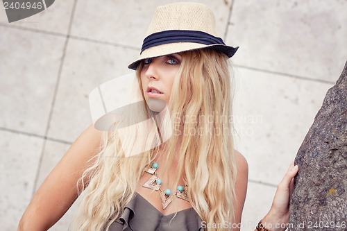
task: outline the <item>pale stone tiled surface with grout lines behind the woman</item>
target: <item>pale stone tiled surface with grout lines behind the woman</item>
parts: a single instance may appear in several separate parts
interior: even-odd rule
[[[91,123],[87,96],[139,53],[155,6],[173,1],[56,1],[9,24],[0,9],[0,223],[24,208]],[[235,65],[237,149],[248,160],[242,230],[271,206],[325,92],[347,58],[347,1],[200,1],[214,10]],[[51,228],[67,230],[76,211]]]

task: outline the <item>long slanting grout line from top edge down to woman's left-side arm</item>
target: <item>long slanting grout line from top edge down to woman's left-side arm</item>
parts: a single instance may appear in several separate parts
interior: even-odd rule
[[[75,9],[76,9],[76,3],[77,3],[77,0],[74,1],[74,6],[72,8],[70,22],[69,22],[69,28],[67,30],[66,40],[65,40],[64,48],[62,49],[62,58],[60,60],[60,67],[59,67],[59,70],[58,70],[58,77],[57,77],[57,80],[56,80],[56,86],[54,87],[54,91],[53,91],[54,93],[53,93],[53,99],[52,99],[52,102],[51,102],[51,110],[49,112],[49,118],[48,118],[48,121],[47,121],[46,130],[44,132],[44,137],[47,137],[47,135],[48,135],[49,126],[50,126],[50,123],[51,123],[51,118],[52,118],[52,114],[53,114],[53,110],[54,110],[54,105],[56,104],[56,96],[57,96],[57,93],[58,93],[60,77],[61,77],[61,74],[62,74],[62,67],[64,66],[64,61],[65,61],[65,56],[66,56],[66,51],[67,51],[67,44],[69,44],[69,33],[71,31],[72,21],[74,20],[74,12],[75,12]],[[43,156],[44,156],[44,148],[45,147],[46,147],[46,139],[44,139],[44,143],[42,145],[42,151],[41,151],[41,155],[40,155],[40,161],[39,161],[39,164],[37,166],[37,172],[36,172],[36,177],[35,177],[34,187],[33,187],[33,195],[35,194],[35,191],[37,189],[37,181],[38,181],[39,176],[40,176],[40,170],[41,170],[42,159],[43,159]]]

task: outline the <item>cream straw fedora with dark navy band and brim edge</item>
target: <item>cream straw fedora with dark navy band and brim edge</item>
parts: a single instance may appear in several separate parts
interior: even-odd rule
[[[145,58],[195,49],[214,49],[232,57],[239,47],[224,44],[215,27],[212,10],[202,3],[159,6],[149,24],[139,58],[128,68],[135,70]]]

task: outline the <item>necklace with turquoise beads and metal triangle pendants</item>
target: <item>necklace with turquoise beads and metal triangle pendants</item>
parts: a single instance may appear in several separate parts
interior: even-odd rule
[[[147,169],[146,172],[152,174],[153,176],[147,180],[143,187],[154,189],[155,191],[160,191],[160,199],[162,200],[162,209],[165,209],[169,203],[174,199],[176,195],[178,198],[187,200],[189,202],[189,198],[187,195],[188,186],[187,185],[178,185],[177,192],[175,194],[171,194],[171,189],[165,189],[162,191],[160,185],[162,185],[162,180],[158,178],[157,173],[155,172],[158,169],[159,164],[154,162],[151,166],[151,169]]]

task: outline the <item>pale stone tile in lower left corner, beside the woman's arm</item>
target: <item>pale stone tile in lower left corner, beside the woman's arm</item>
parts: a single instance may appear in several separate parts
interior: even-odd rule
[[[17,230],[31,200],[43,139],[0,130],[1,230]]]

